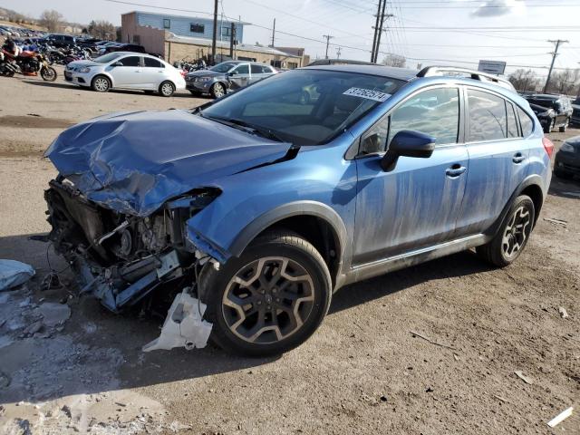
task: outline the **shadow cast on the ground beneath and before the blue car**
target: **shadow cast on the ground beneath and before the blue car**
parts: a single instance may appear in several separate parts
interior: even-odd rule
[[[112,314],[92,296],[79,297],[69,288],[41,290],[40,283],[48,273],[47,245],[32,241],[29,237],[30,235],[0,238],[0,257],[14,258],[35,267],[43,267],[38,270],[30,284],[34,289],[33,304],[38,304],[41,298],[45,301],[63,302],[63,296],[66,298],[67,295],[74,294],[68,299],[72,316],[63,331],[53,337],[21,338],[8,346],[0,347],[0,360],[5,361],[3,370],[13,370],[6,374],[14,379],[28,376],[28,381],[23,381],[24,387],[28,385],[26,388],[15,388],[17,385],[14,385],[8,391],[0,390],[0,402],[39,402],[72,394],[101,393],[119,388],[191,380],[223,372],[240,372],[244,375],[249,374],[253,367],[277,359],[232,356],[211,343],[205,349],[193,352],[174,349],[170,352],[142,353],[141,346],[159,335],[162,317],[143,316],[139,310]],[[61,277],[65,282],[73,282],[74,277],[66,264],[53,255],[52,249],[48,252],[54,268],[64,266]],[[412,266],[344,287],[334,295],[329,315],[339,315],[343,310],[372,302],[424,281],[470,275],[485,270],[488,270],[488,266],[469,251]],[[5,333],[1,324],[0,332]],[[61,358],[66,361],[59,360],[58,355],[54,355],[54,349],[58,349],[57,353],[64,355]],[[68,354],[73,355],[70,361]],[[28,374],[23,375],[19,372],[22,370]],[[42,383],[38,380],[43,380],[44,374],[52,376],[50,384],[47,386],[44,382],[44,385],[36,385],[35,383]],[[110,382],[111,376],[118,382]],[[91,379],[87,381],[87,378]],[[103,381],[105,379],[107,382]]]

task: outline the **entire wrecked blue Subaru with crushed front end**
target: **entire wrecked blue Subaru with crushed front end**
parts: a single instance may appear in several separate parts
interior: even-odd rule
[[[250,355],[303,343],[344,285],[471,248],[507,266],[553,144],[507,82],[451,70],[314,66],[83,122],[46,151],[49,238],[112,311],[185,293]]]

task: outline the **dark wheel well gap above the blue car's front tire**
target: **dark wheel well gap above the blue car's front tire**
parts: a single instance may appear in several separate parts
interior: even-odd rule
[[[266,227],[256,237],[264,233],[276,230],[287,229],[297,233],[310,242],[324,258],[326,266],[333,279],[333,285],[336,284],[336,276],[341,264],[341,244],[338,234],[333,226],[324,218],[312,215],[299,215],[290,218],[284,218]]]

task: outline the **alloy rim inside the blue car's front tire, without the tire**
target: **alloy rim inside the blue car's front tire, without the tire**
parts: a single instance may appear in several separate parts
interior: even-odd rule
[[[304,266],[284,256],[259,258],[237,271],[222,298],[231,333],[248,343],[275,343],[297,332],[314,307]]]

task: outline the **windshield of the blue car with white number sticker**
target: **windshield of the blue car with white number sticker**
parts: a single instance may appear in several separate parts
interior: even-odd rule
[[[200,114],[267,131],[297,145],[319,145],[349,128],[403,84],[362,73],[294,70],[218,100]]]

